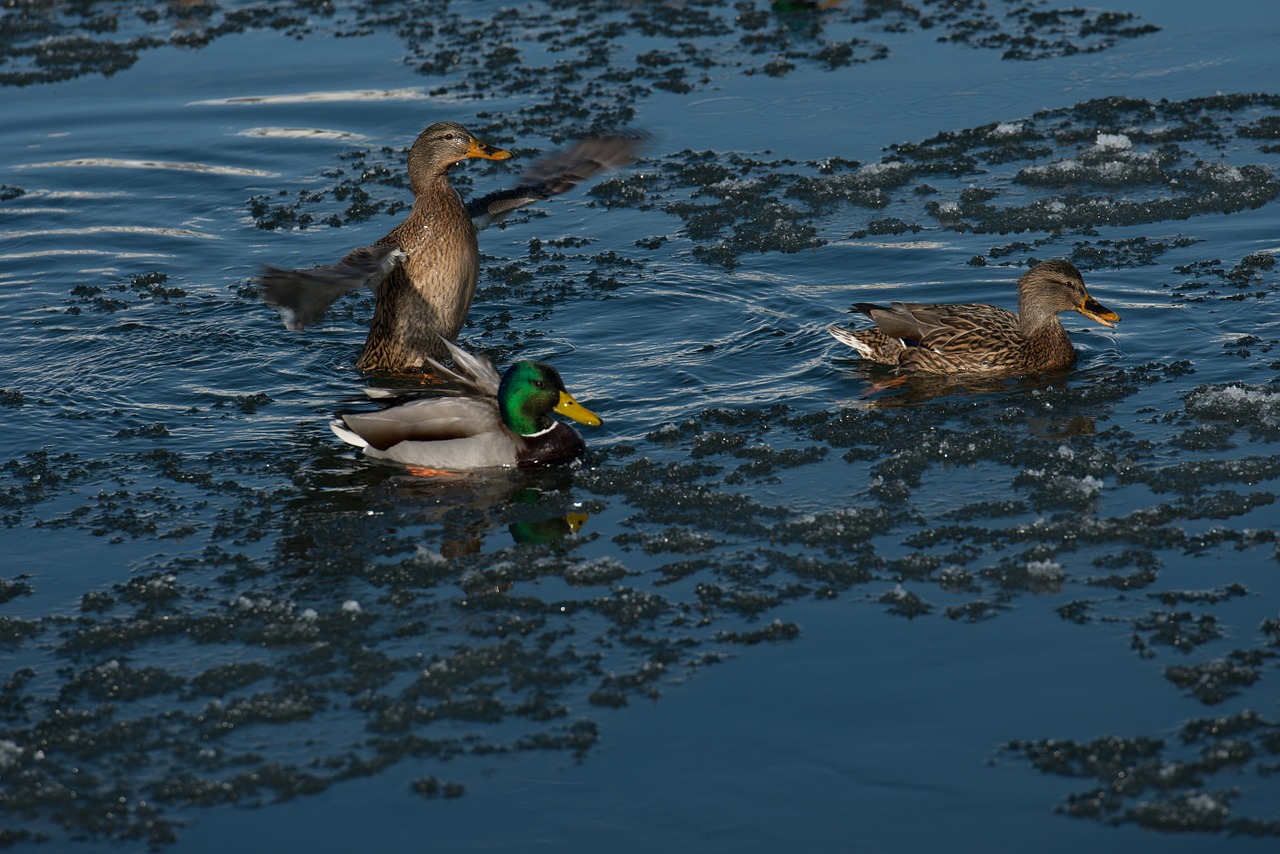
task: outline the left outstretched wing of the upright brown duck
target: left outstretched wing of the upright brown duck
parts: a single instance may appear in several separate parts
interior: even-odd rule
[[[262,298],[275,306],[291,332],[298,332],[324,318],[334,300],[362,287],[375,294],[383,279],[404,259],[394,243],[362,246],[337,264],[308,270],[282,270],[264,266],[259,277]]]

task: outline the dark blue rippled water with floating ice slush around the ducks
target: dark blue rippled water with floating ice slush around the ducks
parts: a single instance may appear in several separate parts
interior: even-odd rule
[[[1270,850],[1270,29],[986,6],[8,13],[6,839]],[[369,301],[253,292],[398,222],[445,118],[517,152],[465,193],[654,134],[481,234],[462,339],[604,417],[577,469],[366,463]],[[868,393],[823,332],[1055,256],[1123,318],[1064,376]]]

